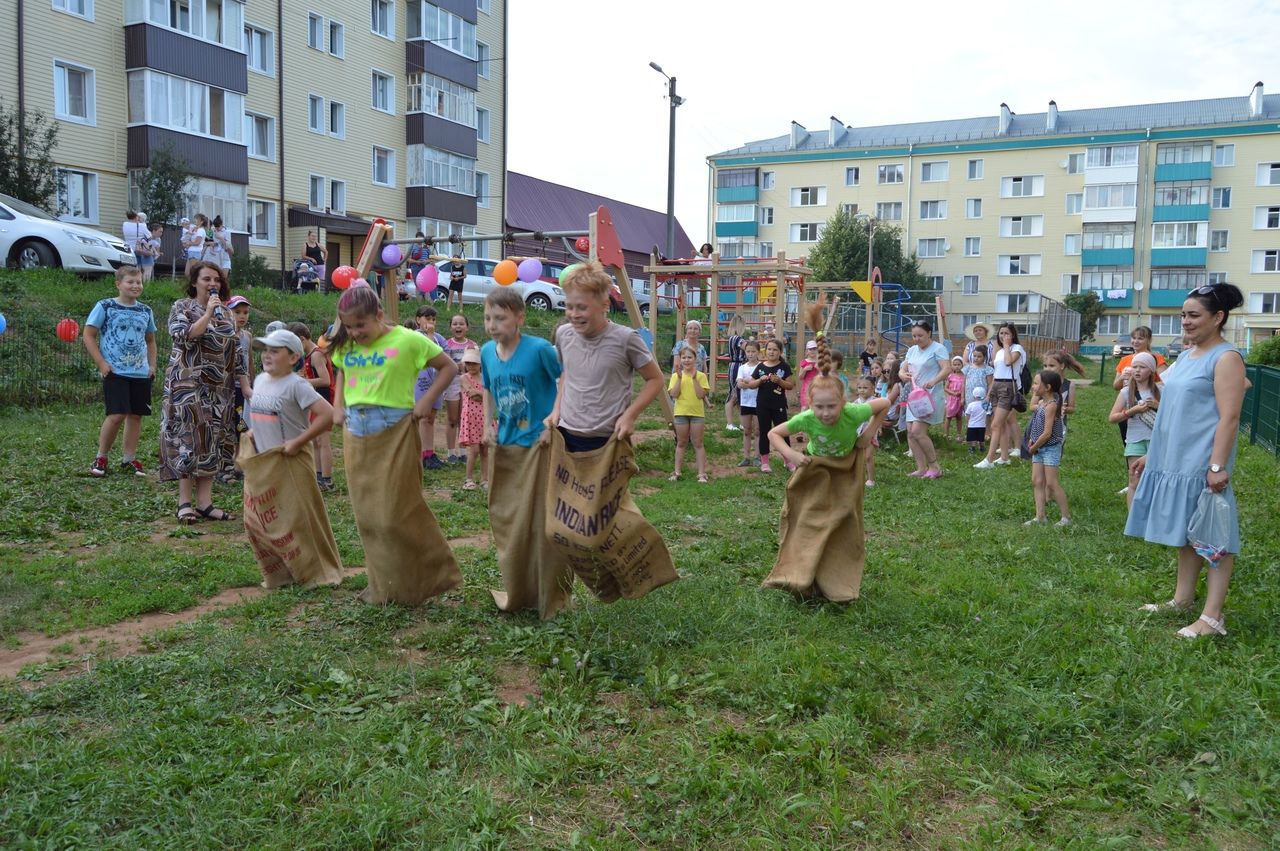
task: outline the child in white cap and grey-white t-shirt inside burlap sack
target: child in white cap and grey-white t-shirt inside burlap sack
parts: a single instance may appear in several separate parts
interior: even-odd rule
[[[253,348],[262,351],[262,372],[236,463],[244,472],[244,532],[262,587],[338,585],[338,544],[311,472],[311,440],[329,430],[333,406],[293,371],[303,349],[297,334],[278,329],[255,338]]]

